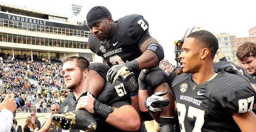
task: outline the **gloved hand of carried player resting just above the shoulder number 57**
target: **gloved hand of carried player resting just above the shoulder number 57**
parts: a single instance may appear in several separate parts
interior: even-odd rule
[[[124,76],[130,72],[137,71],[139,64],[136,60],[126,61],[124,64],[114,65],[107,72],[107,81],[115,83],[119,76]]]

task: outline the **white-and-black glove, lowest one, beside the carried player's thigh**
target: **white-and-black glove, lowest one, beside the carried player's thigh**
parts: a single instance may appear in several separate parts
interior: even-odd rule
[[[156,92],[147,99],[145,99],[145,107],[149,110],[151,114],[156,113],[156,111],[161,111],[162,108],[170,104],[169,98],[161,97],[168,92]]]

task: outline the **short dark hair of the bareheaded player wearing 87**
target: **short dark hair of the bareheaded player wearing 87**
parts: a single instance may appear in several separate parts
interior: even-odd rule
[[[219,48],[218,39],[209,31],[200,30],[187,35],[187,38],[194,38],[198,47],[208,48],[210,50],[211,58],[214,59],[215,54]]]

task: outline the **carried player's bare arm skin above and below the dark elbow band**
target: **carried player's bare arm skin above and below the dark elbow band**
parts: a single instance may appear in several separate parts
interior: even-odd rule
[[[161,61],[158,59],[157,55],[153,51],[147,50],[147,46],[151,43],[159,42],[157,42],[157,40],[154,38],[148,38],[147,40],[145,40],[145,42],[143,42],[143,44],[140,47],[140,50],[143,52],[143,54],[135,59],[139,64],[140,70],[156,66],[156,64],[158,64]]]

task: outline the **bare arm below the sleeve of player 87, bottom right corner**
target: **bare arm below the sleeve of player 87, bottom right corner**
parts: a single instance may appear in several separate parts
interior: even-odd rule
[[[232,112],[232,117],[242,132],[254,132],[256,130],[256,124],[254,123],[256,115],[252,111],[246,113]]]

